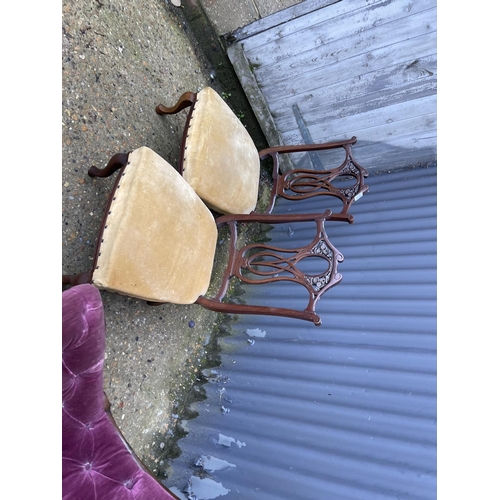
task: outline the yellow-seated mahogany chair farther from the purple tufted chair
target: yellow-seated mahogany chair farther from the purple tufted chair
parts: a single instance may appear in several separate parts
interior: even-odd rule
[[[273,187],[264,213],[273,210],[277,197],[297,201],[333,196],[342,203],[336,220],[354,221],[349,208],[368,191],[364,183],[368,172],[352,155],[356,137],[324,144],[276,146],[259,152],[241,121],[212,88],[205,87],[198,93],[185,92],[171,108],[159,104],[156,113],[175,114],[185,108],[189,108],[189,112],[179,173],[212,210],[220,214],[253,213],[258,200],[261,160],[271,157]],[[329,149],[344,150],[344,160],[338,167],[282,171],[281,154]]]

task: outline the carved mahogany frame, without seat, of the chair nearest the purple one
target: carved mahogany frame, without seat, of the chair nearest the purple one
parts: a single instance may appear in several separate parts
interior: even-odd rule
[[[91,177],[109,177],[116,171],[119,171],[108,200],[105,214],[109,212],[115,191],[119,188],[120,178],[127,166],[129,154],[118,153],[109,160],[103,169],[92,166],[88,171],[88,175]],[[200,296],[196,303],[207,309],[221,313],[284,316],[311,321],[319,326],[321,318],[315,312],[316,303],[327,290],[342,280],[342,275],[338,273],[337,265],[344,260],[344,257],[330,242],[325,230],[325,221],[332,220],[348,221],[345,214],[333,214],[330,210],[315,214],[273,215],[252,213],[248,215],[222,215],[217,217],[215,223],[218,228],[225,225],[230,228],[228,265],[215,296],[213,298]],[[261,243],[253,243],[238,249],[238,223],[252,222],[265,224],[314,222],[316,224],[316,233],[312,241],[301,248],[285,249]],[[105,225],[106,216],[101,223],[92,268],[78,275],[63,275],[63,286],[92,283],[92,275],[99,257],[99,247]],[[326,270],[314,275],[302,272],[298,268],[298,264],[306,258],[322,259],[327,263]],[[284,307],[253,306],[223,302],[229,282],[233,277],[250,284],[276,283],[280,281],[298,283],[308,293],[309,300],[307,306],[304,310],[300,311]],[[148,303],[151,305],[158,304]]]

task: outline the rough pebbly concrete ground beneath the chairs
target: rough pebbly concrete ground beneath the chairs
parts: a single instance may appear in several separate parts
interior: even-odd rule
[[[154,111],[158,103],[172,105],[183,92],[210,85],[230,94],[228,103],[245,115],[242,121],[257,146],[266,146],[217,41],[222,32],[255,19],[256,11],[238,10],[233,16],[237,2],[205,0],[212,16],[207,19],[196,1],[175,3],[63,0],[63,274],[90,268],[114,182],[113,177],[90,178],[91,165],[102,167],[113,154],[144,145],[177,164],[186,112],[160,117]],[[276,9],[287,6],[269,3]],[[101,295],[107,326],[105,391],[112,413],[145,465],[165,476],[178,453],[180,422],[193,416],[193,381],[204,367],[217,364],[216,339],[230,332],[231,318],[198,305],[150,307]]]

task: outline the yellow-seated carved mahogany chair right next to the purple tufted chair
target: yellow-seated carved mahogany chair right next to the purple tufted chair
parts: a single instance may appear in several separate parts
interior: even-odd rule
[[[344,259],[328,239],[325,220],[346,221],[346,214],[327,210],[295,215],[229,214],[215,219],[186,180],[153,150],[141,147],[116,154],[104,169],[91,167],[89,175],[107,177],[117,170],[92,268],[63,276],[63,285],[92,283],[100,290],[150,304],[197,303],[222,313],[287,316],[321,324],[315,305],[342,279],[337,264]],[[255,243],[238,249],[238,223],[250,222],[307,222],[315,224],[316,232],[302,248],[280,249]],[[218,291],[207,297],[218,228],[223,226],[230,228],[229,262]],[[321,264],[323,272],[301,271],[306,260]],[[309,296],[307,306],[295,310],[225,303],[233,277],[252,284],[298,283]]]

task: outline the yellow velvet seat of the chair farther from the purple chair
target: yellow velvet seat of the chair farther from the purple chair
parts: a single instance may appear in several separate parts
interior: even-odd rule
[[[197,94],[186,138],[183,177],[213,210],[248,214],[259,191],[259,153],[250,134],[210,87]]]

